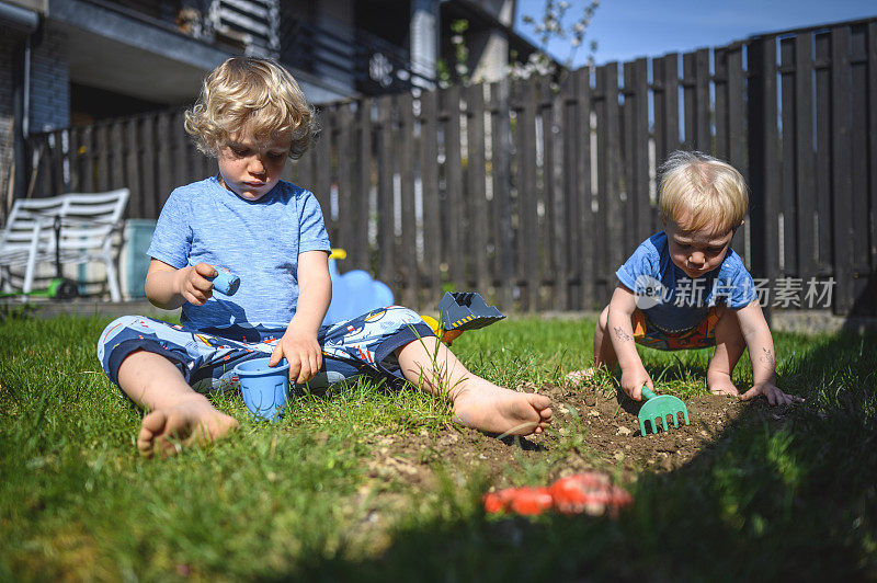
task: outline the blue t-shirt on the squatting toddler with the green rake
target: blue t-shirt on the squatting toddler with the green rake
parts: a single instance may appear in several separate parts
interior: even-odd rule
[[[692,279],[673,263],[664,231],[645,240],[615,275],[637,295],[637,307],[649,321],[664,332],[697,325],[710,306],[739,309],[756,296],[752,276],[732,249],[718,267]]]

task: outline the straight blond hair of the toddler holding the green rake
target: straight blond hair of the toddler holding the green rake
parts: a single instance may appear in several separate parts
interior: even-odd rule
[[[682,230],[725,235],[742,222],[748,206],[747,183],[727,162],[674,151],[661,165],[658,207],[664,220]]]

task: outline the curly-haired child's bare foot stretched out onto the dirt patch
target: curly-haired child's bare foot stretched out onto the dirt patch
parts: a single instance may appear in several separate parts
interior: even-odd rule
[[[548,397],[503,389],[478,377],[454,389],[451,401],[462,424],[488,433],[529,435],[551,422]]]

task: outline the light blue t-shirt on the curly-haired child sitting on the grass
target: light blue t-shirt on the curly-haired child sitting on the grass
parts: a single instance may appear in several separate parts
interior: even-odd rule
[[[214,289],[204,306],[183,305],[181,322],[203,329],[288,323],[298,301],[298,255],[306,251],[331,251],[312,193],[281,181],[248,201],[214,176],[171,193],[147,254],[176,268],[221,265],[240,277],[234,296]]]

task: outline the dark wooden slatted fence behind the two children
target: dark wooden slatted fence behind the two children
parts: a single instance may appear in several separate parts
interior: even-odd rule
[[[834,282],[835,313],[877,306],[877,19],[533,78],[362,99],[321,110],[287,178],[314,191],[342,271],[433,307],[479,290],[505,310],[593,309],[661,229],[656,167],[697,149],[739,168],[750,216],[734,239],[756,277]],[[182,113],[38,136],[36,195],[132,188],[155,218],[171,190],[216,172]],[[832,279],[833,278],[833,279]],[[823,300],[825,298],[823,297]],[[770,304],[771,301],[768,301]]]

